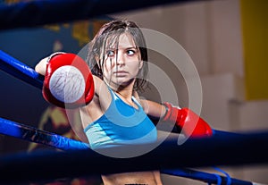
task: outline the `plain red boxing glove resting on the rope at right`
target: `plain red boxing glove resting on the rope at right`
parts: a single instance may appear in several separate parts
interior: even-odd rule
[[[175,122],[186,137],[203,138],[213,135],[211,127],[193,111],[188,108],[174,107],[167,102],[163,105],[167,110],[163,116],[163,122]]]

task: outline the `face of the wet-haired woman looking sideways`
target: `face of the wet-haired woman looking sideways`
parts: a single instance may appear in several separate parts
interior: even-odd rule
[[[119,36],[118,43],[106,45],[104,54],[105,82],[113,88],[134,85],[143,63],[140,60],[138,46],[135,45],[130,34],[123,33]]]

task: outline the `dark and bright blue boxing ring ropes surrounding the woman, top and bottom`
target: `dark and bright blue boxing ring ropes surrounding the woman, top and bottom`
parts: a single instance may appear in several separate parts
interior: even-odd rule
[[[59,8],[63,2],[65,4],[64,8]],[[109,2],[110,1],[46,0],[0,6],[0,29],[33,27],[45,23],[89,18],[101,14],[96,11],[96,7],[102,7],[103,4],[105,4],[105,7],[110,7],[107,5]],[[114,2],[115,4],[122,4],[122,1]],[[175,2],[178,2],[178,0],[164,1],[164,3]],[[53,4],[54,7],[49,6],[49,4]],[[76,4],[76,6],[73,6],[74,4]],[[133,7],[123,7],[120,5],[119,8],[114,9],[113,12],[104,9],[102,14],[126,11],[130,10],[130,8],[135,9],[157,4],[163,4],[163,2],[138,0],[137,4]],[[84,7],[82,10],[86,10],[88,13],[80,11],[75,17],[71,15],[67,17],[64,16],[66,14],[76,14],[76,10],[82,8],[81,6]],[[70,7],[72,7],[71,12],[74,13],[70,13],[70,10],[68,12],[68,8]],[[49,12],[50,15],[46,16],[48,9],[52,12]],[[56,10],[61,10],[58,13],[63,16],[58,16],[57,19],[52,19],[51,14],[56,13]],[[16,11],[18,13],[14,13]],[[38,17],[38,21],[25,22],[26,19],[29,19],[30,16],[32,16],[31,13],[37,12],[42,15]],[[13,14],[13,16],[8,16],[10,13]],[[6,17],[9,17],[9,19],[4,19]],[[25,63],[21,63],[19,60],[13,58],[13,56],[5,54],[1,50],[0,69],[35,88],[41,89],[43,86],[43,77],[41,75]],[[29,181],[53,181],[54,179],[60,178],[83,177],[114,172],[160,170],[165,174],[204,181],[208,184],[252,185],[257,183],[231,178],[226,172],[222,172],[220,175],[218,173],[200,172],[192,170],[192,168],[268,163],[268,151],[264,148],[268,143],[268,130],[247,133],[232,133],[222,130],[214,130],[214,136],[211,138],[188,139],[180,146],[178,146],[178,137],[176,137],[176,135],[171,135],[161,142],[154,150],[145,155],[131,158],[104,156],[100,154],[101,152],[99,153],[89,149],[87,143],[75,139],[68,139],[45,130],[38,130],[37,128],[29,126],[27,123],[13,122],[4,118],[0,118],[0,134],[63,150],[63,152],[34,151],[31,153],[16,153],[8,156],[0,156],[0,184],[14,184]],[[150,147],[149,145],[150,144],[136,145],[135,147],[147,148]],[[131,148],[113,147],[108,150],[128,151],[128,149]],[[100,150],[107,150],[107,148]],[[27,166],[27,168],[25,168],[25,166]],[[71,166],[75,170],[71,170],[66,166]],[[88,166],[94,166],[94,168],[88,168]],[[116,168],[114,168],[114,166],[116,166]],[[219,170],[219,172],[221,171]],[[11,179],[11,173],[16,174],[16,178]]]

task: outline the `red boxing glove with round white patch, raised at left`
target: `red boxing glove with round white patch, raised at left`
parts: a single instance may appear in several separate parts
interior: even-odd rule
[[[47,102],[63,108],[88,105],[94,97],[94,81],[88,64],[74,54],[51,55],[42,92]]]

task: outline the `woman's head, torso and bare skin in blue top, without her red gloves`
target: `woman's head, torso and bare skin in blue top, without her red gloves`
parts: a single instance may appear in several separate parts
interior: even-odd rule
[[[36,71],[45,75],[46,61],[41,60]],[[87,62],[95,93],[88,105],[80,107],[80,114],[89,146],[97,149],[155,142],[155,125],[147,117],[147,103],[137,92],[146,85],[148,71],[147,46],[138,26],[132,21],[106,23],[90,43]],[[163,105],[155,103],[150,108],[155,117],[164,112]],[[157,171],[102,175],[102,179],[105,185],[162,184]]]

